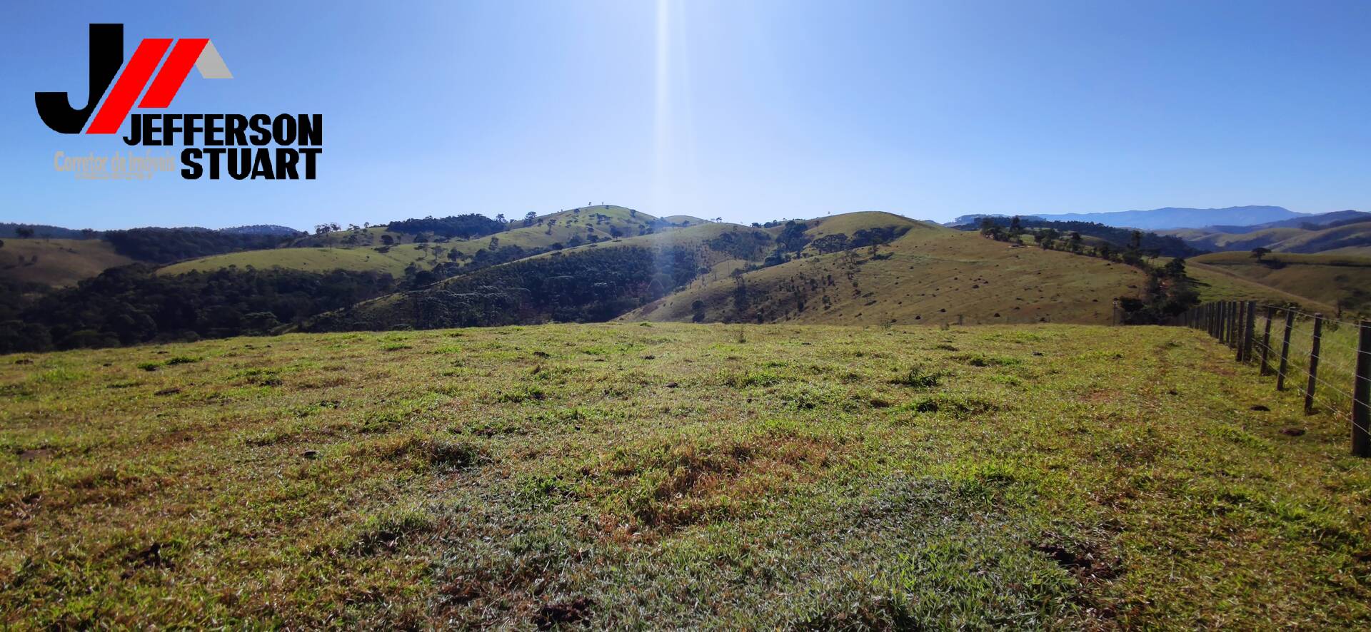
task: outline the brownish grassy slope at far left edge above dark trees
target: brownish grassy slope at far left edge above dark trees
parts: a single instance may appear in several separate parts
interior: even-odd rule
[[[37,258],[37,260],[34,260]],[[5,239],[0,247],[0,277],[44,285],[74,285],[133,259],[108,241],[80,239]]]

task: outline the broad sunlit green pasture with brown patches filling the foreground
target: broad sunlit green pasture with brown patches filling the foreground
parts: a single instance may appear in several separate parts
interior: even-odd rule
[[[1371,463],[1182,328],[675,324],[0,358],[0,617],[1371,622]]]

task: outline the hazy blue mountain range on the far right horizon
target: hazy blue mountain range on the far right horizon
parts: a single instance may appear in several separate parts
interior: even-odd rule
[[[1167,207],[1152,208],[1148,211],[1064,212],[1020,217],[1056,222],[1094,222],[1104,223],[1105,226],[1135,228],[1142,230],[1217,228],[1222,229],[1222,232],[1234,233],[1281,226],[1298,228],[1304,223],[1326,226],[1333,222],[1353,219],[1359,215],[1364,215],[1371,219],[1371,214],[1361,211],[1296,212],[1279,206],[1231,206],[1227,208]],[[961,215],[946,225],[960,226],[973,223],[979,222],[984,217],[1005,215]]]

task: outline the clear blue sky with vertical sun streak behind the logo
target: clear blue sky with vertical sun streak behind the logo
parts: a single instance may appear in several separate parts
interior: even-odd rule
[[[213,38],[234,78],[166,111],[322,114],[319,178],[56,173],[126,149],[33,104],[84,103],[90,22]],[[11,1],[0,32],[0,221],[1371,210],[1366,1]]]

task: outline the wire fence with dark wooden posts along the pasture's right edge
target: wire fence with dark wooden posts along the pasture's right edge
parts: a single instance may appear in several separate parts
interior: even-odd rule
[[[1348,420],[1352,454],[1371,457],[1371,321],[1242,300],[1204,303],[1178,321],[1226,343],[1278,389],[1301,392],[1307,414]]]

